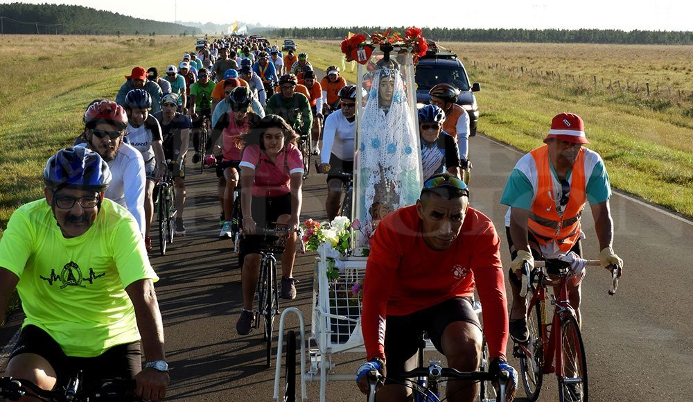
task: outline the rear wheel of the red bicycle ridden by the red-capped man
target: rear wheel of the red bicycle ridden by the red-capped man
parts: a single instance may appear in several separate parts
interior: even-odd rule
[[[541,339],[541,309],[539,304],[532,306],[532,312],[527,317],[529,341],[520,347],[520,374],[527,401],[534,402],[541,392],[543,381],[544,346]]]

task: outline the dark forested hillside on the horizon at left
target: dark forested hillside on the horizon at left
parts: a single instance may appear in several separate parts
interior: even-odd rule
[[[64,4],[0,4],[3,34],[198,35],[200,28]]]

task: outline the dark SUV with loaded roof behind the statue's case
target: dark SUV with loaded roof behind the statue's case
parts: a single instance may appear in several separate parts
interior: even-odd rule
[[[477,107],[474,92],[480,91],[478,82],[469,85],[469,77],[462,62],[455,53],[439,49],[429,43],[430,48],[425,56],[416,65],[416,102],[429,103],[428,91],[440,83],[455,85],[461,92],[457,97],[457,104],[464,107],[469,114],[469,135],[476,134],[477,121],[479,121],[479,108]]]

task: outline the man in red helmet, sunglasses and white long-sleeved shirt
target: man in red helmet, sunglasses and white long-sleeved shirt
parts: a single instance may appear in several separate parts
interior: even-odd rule
[[[102,100],[89,106],[83,121],[87,127],[87,143],[80,145],[98,153],[107,162],[113,177],[105,192],[106,198],[127,208],[144,235],[144,159],[137,149],[123,141],[128,127],[125,110],[115,102]]]

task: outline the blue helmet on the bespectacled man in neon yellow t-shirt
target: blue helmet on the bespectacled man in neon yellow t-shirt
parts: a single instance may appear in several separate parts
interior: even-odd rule
[[[110,182],[108,164],[98,153],[81,146],[59,150],[44,168],[44,183],[53,191],[68,188],[101,193]]]

